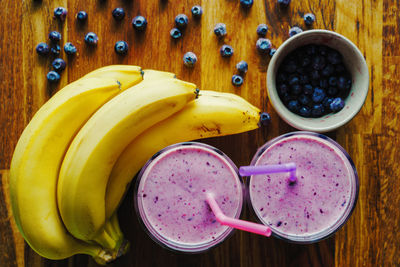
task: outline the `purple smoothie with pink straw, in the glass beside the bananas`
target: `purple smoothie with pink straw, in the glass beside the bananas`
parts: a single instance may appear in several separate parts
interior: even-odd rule
[[[199,252],[232,231],[216,221],[206,203],[212,192],[222,211],[238,218],[242,183],[222,152],[200,143],[167,147],[139,175],[137,211],[150,236],[180,251]]]

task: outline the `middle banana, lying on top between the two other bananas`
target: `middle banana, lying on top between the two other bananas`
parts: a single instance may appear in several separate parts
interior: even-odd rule
[[[102,236],[114,162],[137,135],[193,100],[195,89],[178,79],[144,80],[88,120],[65,155],[58,182],[58,206],[70,233],[82,240]]]

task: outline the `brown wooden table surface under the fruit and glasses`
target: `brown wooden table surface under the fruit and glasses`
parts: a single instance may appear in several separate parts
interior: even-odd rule
[[[90,2],[90,4],[89,4]],[[329,2],[329,4],[328,4]],[[172,41],[169,30],[178,13],[190,14],[194,4],[201,4],[200,22],[191,20],[179,41]],[[22,130],[38,108],[52,94],[83,74],[107,64],[134,64],[143,68],[172,71],[183,80],[202,89],[234,92],[252,104],[270,112],[272,124],[267,129],[224,138],[205,140],[226,152],[237,165],[248,164],[257,147],[280,134],[294,131],[284,123],[268,103],[266,70],[268,59],[255,50],[256,27],[267,23],[268,38],[275,47],[288,38],[293,25],[303,28],[302,14],[313,12],[314,28],[334,30],[352,40],[364,54],[370,70],[370,91],[361,112],[346,126],[328,133],[352,156],[360,178],[357,207],[347,224],[332,238],[312,245],[288,244],[275,238],[236,232],[217,248],[200,255],[177,255],[155,244],[141,229],[132,209],[132,192],[119,210],[121,226],[131,240],[130,252],[110,266],[393,266],[400,264],[400,28],[399,2],[381,1],[296,1],[287,11],[276,0],[256,0],[250,11],[240,8],[238,0],[203,1],[1,1],[0,3],[0,265],[1,266],[94,266],[87,256],[50,261],[38,256],[24,243],[12,219],[8,195],[8,169],[15,144]],[[68,9],[63,24],[52,19],[53,9]],[[121,6],[126,17],[116,23],[111,11]],[[75,14],[86,10],[88,23],[79,26]],[[148,19],[143,35],[136,34],[131,19],[142,14]],[[213,27],[227,25],[225,42],[235,54],[230,59],[219,56]],[[71,41],[78,55],[68,60],[58,86],[49,86],[48,59],[40,58],[35,47],[46,41],[51,30]],[[86,32],[99,36],[97,48],[83,41]],[[126,40],[127,56],[117,56],[113,46]],[[182,64],[182,56],[193,51],[198,63],[193,69]],[[66,58],[64,53],[62,57]],[[243,86],[235,88],[230,79],[235,64],[249,63]],[[232,145],[235,144],[235,145]],[[396,183],[397,181],[397,183]],[[252,219],[248,209],[244,218]]]

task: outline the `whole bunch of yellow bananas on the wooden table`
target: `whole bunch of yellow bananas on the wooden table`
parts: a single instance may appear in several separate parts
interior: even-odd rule
[[[129,247],[116,211],[144,163],[173,143],[256,129],[259,112],[173,73],[97,69],[45,103],[17,143],[10,195],[18,228],[43,257],[112,261]]]

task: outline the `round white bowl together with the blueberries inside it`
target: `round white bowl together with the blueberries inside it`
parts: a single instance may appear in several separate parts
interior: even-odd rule
[[[272,106],[288,124],[328,132],[360,111],[368,94],[368,67],[346,37],[308,30],[276,51],[268,66],[267,87]]]

